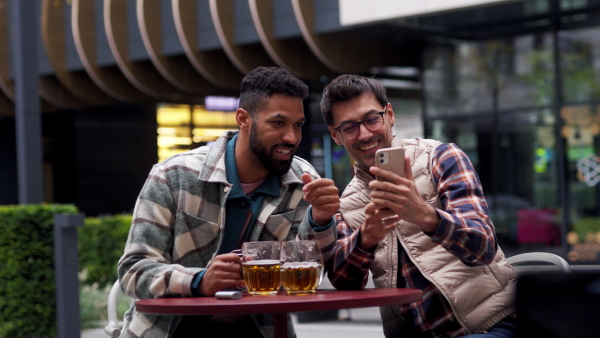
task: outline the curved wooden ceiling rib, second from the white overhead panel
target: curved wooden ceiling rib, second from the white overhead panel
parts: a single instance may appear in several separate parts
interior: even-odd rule
[[[304,41],[275,39],[272,0],[248,0],[248,4],[260,41],[279,67],[307,79],[332,75],[333,71],[315,57]]]

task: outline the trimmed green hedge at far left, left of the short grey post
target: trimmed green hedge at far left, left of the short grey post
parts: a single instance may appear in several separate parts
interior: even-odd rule
[[[73,205],[0,206],[0,337],[56,337],[55,214]]]

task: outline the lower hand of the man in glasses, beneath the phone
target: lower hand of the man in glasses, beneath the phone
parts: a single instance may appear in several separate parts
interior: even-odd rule
[[[380,209],[370,202],[365,208],[365,222],[360,226],[360,242],[358,246],[363,250],[370,250],[379,244],[387,234],[394,231],[396,223],[400,220],[391,209]]]

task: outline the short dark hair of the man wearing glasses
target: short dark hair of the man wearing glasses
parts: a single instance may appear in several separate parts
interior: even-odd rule
[[[325,86],[321,98],[321,112],[328,125],[333,125],[331,106],[337,102],[350,101],[363,93],[371,92],[377,102],[385,106],[388,103],[385,87],[381,82],[354,74],[340,75]]]

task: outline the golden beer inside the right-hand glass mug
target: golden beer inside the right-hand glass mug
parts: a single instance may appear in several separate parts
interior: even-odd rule
[[[281,267],[281,281],[289,295],[307,295],[317,291],[321,282],[321,264],[286,262]]]

